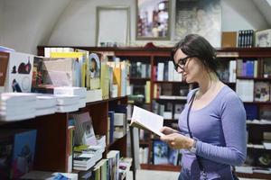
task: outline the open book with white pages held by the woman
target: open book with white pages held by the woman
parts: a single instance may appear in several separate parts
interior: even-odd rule
[[[134,105],[131,126],[143,130],[150,130],[158,136],[163,136],[164,134],[160,131],[163,128],[163,123],[164,118],[162,116],[148,112]]]

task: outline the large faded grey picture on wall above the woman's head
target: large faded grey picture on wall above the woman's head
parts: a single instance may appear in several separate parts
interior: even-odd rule
[[[174,40],[196,33],[215,48],[221,46],[220,0],[176,0]]]

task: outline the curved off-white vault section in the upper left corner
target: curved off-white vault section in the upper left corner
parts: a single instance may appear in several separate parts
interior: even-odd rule
[[[35,54],[38,44],[47,44],[52,28],[69,3],[70,0],[4,0],[3,45]]]

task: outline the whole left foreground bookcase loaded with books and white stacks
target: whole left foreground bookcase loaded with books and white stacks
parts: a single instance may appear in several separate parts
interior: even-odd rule
[[[91,178],[96,178],[94,175],[104,175],[107,171],[114,177],[111,179],[125,178],[131,161],[122,166],[119,162],[120,157],[126,157],[127,150],[124,89],[129,86],[128,64],[119,69],[119,89],[113,98],[110,95],[113,88],[109,85],[113,77],[106,76],[107,79],[102,80],[104,76],[99,72],[99,76],[93,76],[95,80],[89,79],[88,73],[82,72],[87,66],[77,65],[82,57],[57,58],[59,56],[60,52],[53,58],[1,52],[0,179],[34,179],[40,175],[78,179],[90,178],[91,174]],[[98,55],[97,58],[100,59]],[[107,74],[114,71],[114,67],[105,66]],[[15,90],[10,84],[14,79],[19,85]],[[93,97],[92,91],[99,97]],[[110,127],[108,111],[114,111],[113,127]],[[114,132],[110,142],[108,131]],[[108,164],[105,164],[107,159]],[[94,173],[100,164],[103,170]],[[120,175],[118,169],[123,166],[126,170]]]

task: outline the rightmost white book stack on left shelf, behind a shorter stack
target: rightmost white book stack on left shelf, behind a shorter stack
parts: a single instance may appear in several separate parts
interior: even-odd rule
[[[85,107],[87,102],[87,88],[86,87],[70,87],[61,86],[54,87],[53,94],[66,94],[66,95],[78,95],[79,107]]]

